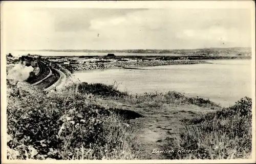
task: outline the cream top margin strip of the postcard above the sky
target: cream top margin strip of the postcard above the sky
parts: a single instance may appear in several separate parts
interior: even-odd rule
[[[253,1],[5,1],[4,6],[12,8],[197,8],[197,9],[226,9],[252,8]]]

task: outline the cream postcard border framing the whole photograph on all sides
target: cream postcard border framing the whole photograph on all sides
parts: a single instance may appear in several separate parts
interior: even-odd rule
[[[6,159],[6,57],[5,29],[3,19],[9,7],[12,8],[249,8],[252,18],[252,159],[233,160],[7,160]],[[3,54],[2,54],[3,53]],[[255,6],[253,1],[5,1],[1,2],[1,159],[3,163],[250,163],[255,162]]]

